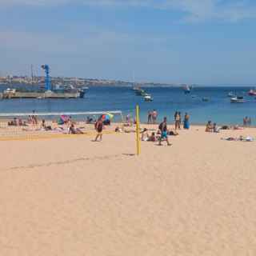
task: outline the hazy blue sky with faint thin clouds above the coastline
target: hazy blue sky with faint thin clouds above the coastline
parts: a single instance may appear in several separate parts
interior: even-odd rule
[[[254,84],[256,1],[0,0],[0,74]]]

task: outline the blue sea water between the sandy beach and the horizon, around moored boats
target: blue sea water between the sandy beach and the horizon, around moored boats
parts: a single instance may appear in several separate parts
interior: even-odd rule
[[[0,90],[5,88],[0,86]],[[145,89],[152,94],[153,102],[144,102],[127,87],[90,87],[85,98],[0,100],[0,112],[122,110],[126,115],[134,114],[138,104],[142,122],[146,122],[147,112],[155,109],[158,111],[158,121],[166,116],[169,122],[173,122],[174,112],[178,110],[182,116],[186,112],[190,114],[190,122],[194,124],[205,124],[208,120],[218,124],[241,124],[242,118],[248,116],[252,119],[252,125],[256,125],[256,98],[247,95],[249,87],[197,87],[190,94],[184,94],[180,88]],[[230,103],[227,97],[230,91],[244,96],[246,102]],[[209,98],[209,102],[203,102],[204,97]]]

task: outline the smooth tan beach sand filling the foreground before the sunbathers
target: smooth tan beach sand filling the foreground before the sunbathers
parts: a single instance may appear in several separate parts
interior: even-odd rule
[[[255,255],[256,142],[193,126],[172,146],[134,134],[0,142],[0,254]]]

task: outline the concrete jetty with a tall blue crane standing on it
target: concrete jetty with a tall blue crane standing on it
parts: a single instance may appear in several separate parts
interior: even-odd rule
[[[60,88],[54,89],[50,81],[50,66],[42,65],[42,70],[45,71],[45,88],[43,90],[18,90],[7,88],[1,94],[1,98],[84,98],[86,89]]]

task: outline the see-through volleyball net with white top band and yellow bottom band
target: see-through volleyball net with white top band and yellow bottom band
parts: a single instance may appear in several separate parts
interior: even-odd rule
[[[103,133],[122,126],[122,111],[0,113],[0,140],[62,138],[73,134],[95,134],[94,125],[102,117]],[[70,132],[70,126],[72,130]]]

